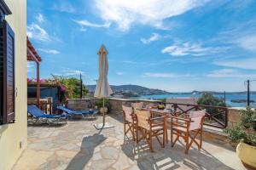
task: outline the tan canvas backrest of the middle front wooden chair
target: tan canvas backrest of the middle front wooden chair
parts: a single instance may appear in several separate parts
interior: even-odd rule
[[[148,129],[148,119],[150,118],[150,112],[135,110],[134,113],[137,115],[137,125],[139,127]]]

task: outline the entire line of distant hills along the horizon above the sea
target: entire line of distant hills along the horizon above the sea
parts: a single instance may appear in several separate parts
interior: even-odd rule
[[[131,98],[131,97],[140,97],[143,95],[158,95],[158,94],[224,94],[224,92],[215,92],[215,91],[192,91],[192,92],[167,92],[165,90],[157,88],[145,88],[139,85],[110,85],[113,90],[113,96],[118,96],[120,98]],[[89,93],[93,94],[96,88],[96,85],[87,85],[86,88],[89,89]],[[247,94],[247,92],[226,92],[226,94]],[[255,91],[250,94],[256,94]]]

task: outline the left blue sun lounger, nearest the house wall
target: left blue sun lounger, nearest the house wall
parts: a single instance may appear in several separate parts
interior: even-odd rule
[[[36,105],[27,105],[27,112],[32,115],[32,123],[37,123],[37,122],[46,122],[50,124],[51,122],[56,122],[59,124],[59,122],[65,122],[67,123],[67,114],[62,114],[62,115],[49,115],[45,114],[44,111],[41,111],[38,109]]]

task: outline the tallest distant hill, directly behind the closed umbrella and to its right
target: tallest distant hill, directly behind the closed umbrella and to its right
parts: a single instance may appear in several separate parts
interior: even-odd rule
[[[131,95],[131,96],[139,96],[139,95],[153,95],[153,94],[170,94],[164,90],[154,89],[154,88],[145,88],[143,86],[138,85],[119,85],[114,86],[110,85],[114,94],[120,95]],[[89,89],[90,92],[94,92],[96,85],[87,85],[86,88]]]

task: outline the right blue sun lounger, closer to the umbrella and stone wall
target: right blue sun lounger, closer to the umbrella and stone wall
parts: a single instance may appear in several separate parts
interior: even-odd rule
[[[81,116],[83,118],[96,118],[96,114],[98,111],[74,111],[72,109],[69,109],[67,107],[64,107],[63,105],[57,106],[57,109],[60,111],[64,111],[68,115],[71,116]]]

